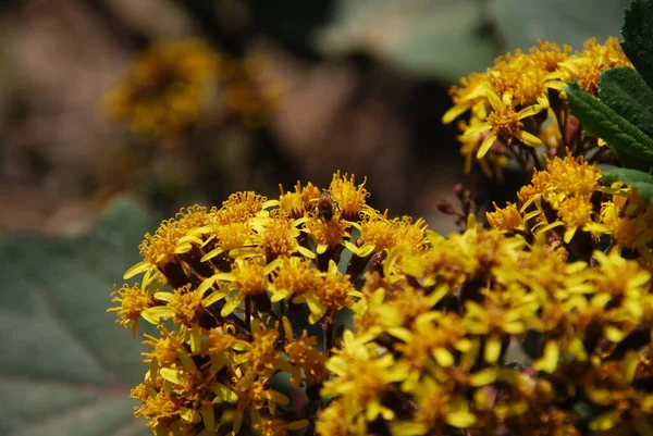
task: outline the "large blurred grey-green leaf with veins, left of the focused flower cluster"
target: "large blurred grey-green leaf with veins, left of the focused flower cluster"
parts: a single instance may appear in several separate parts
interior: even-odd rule
[[[119,200],[83,239],[0,234],[0,434],[149,434],[128,398],[143,347],[104,311],[152,227]]]

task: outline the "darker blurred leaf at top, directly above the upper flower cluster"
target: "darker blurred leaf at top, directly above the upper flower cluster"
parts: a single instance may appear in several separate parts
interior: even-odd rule
[[[629,0],[494,0],[507,48],[528,49],[538,39],[581,49],[590,37],[618,36]]]

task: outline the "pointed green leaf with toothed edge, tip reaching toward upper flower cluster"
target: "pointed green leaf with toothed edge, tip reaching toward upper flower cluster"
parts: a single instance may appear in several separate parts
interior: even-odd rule
[[[571,113],[586,130],[607,142],[627,166],[648,170],[653,163],[653,139],[576,84],[565,88]]]

